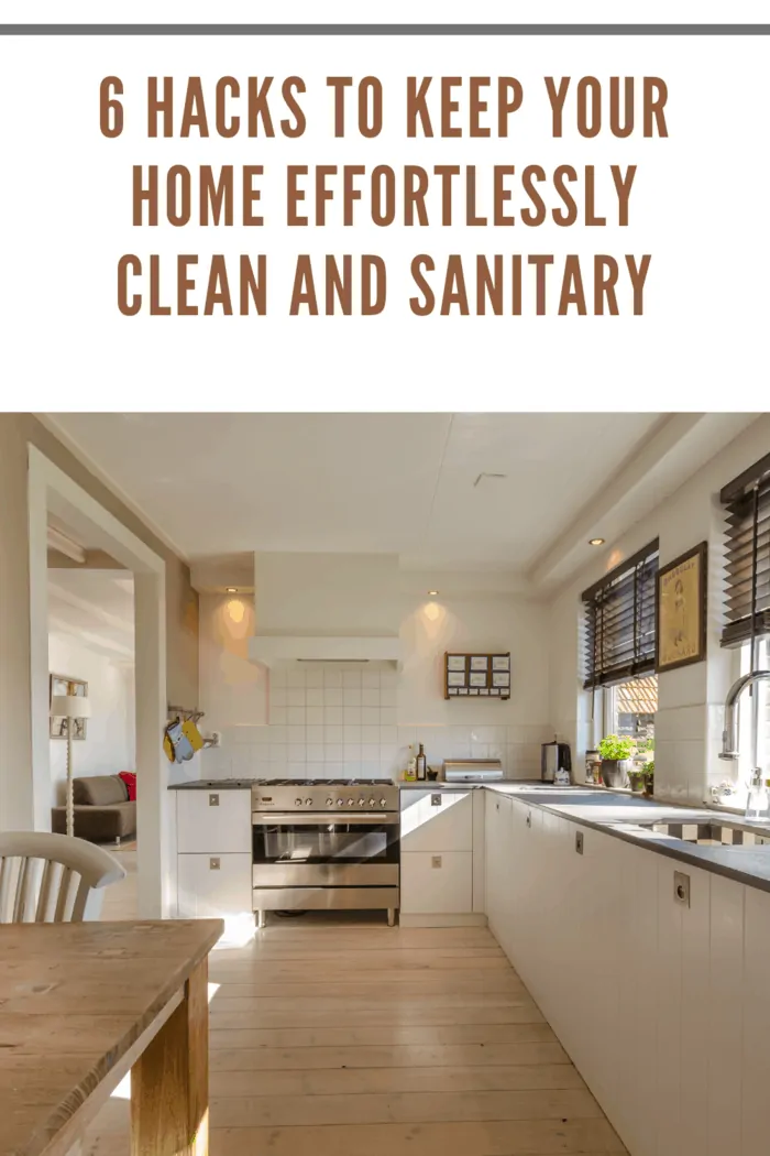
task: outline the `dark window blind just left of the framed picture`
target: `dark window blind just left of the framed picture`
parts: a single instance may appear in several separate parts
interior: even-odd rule
[[[583,592],[586,689],[655,670],[657,573],[656,539]]]

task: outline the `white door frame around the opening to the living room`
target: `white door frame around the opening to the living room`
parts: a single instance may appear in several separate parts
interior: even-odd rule
[[[51,511],[74,531],[82,529],[90,546],[106,550],[134,573],[137,903],[141,918],[162,919],[175,907],[175,849],[171,846],[172,815],[166,790],[170,764],[162,748],[167,709],[166,564],[31,443],[28,461],[32,773],[18,796],[25,814],[17,815],[14,825],[51,830],[47,598]]]

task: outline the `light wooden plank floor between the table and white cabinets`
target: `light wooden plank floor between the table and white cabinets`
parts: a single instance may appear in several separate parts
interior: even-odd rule
[[[625,1149],[486,928],[274,917],[211,955],[211,1156]],[[113,1098],[85,1156],[128,1156]]]

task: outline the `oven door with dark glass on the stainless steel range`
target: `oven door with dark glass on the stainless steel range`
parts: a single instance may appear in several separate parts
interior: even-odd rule
[[[254,887],[397,887],[398,820],[256,812]]]

